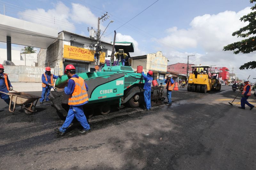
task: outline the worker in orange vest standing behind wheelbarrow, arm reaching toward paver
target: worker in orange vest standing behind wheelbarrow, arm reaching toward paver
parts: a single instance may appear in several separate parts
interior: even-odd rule
[[[61,76],[55,76],[51,74],[50,67],[45,68],[45,73],[42,74],[42,96],[40,99],[40,104],[43,104],[44,99],[46,100],[46,102],[50,103],[49,96],[50,96],[51,89],[54,86],[53,78],[57,79],[58,77],[61,78]],[[45,98],[45,94],[46,94],[46,98]]]

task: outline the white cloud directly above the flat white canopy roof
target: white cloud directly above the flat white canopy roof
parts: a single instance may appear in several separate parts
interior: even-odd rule
[[[49,9],[48,11],[42,8],[25,10],[19,12],[19,16],[23,20],[55,28],[58,31],[66,30],[74,32],[76,29],[74,24],[69,21],[69,8],[60,1],[55,5],[55,8]]]

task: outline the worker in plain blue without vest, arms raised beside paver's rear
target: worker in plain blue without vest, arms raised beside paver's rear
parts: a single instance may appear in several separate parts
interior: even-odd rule
[[[153,81],[153,71],[149,70],[147,73],[147,76],[144,74],[144,72],[142,71],[141,75],[143,76],[144,80],[145,80],[145,84],[144,84],[144,99],[145,99],[145,103],[146,103],[146,108],[144,109],[145,111],[149,111],[151,109],[151,84]]]

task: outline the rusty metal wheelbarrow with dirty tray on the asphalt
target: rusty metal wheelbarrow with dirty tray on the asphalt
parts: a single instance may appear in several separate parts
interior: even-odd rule
[[[31,115],[32,113],[36,112],[36,103],[37,103],[38,99],[40,99],[41,97],[35,96],[32,94],[28,94],[25,92],[17,92],[15,90],[12,90],[12,91],[14,91],[14,92],[8,92],[8,93],[1,92],[6,95],[9,95],[9,97],[11,99],[10,104],[9,104],[10,112],[15,111],[16,105],[20,105],[21,109],[24,110],[26,115]],[[13,109],[11,110],[12,102],[14,104],[13,104]],[[34,105],[34,102],[35,102],[35,105]]]

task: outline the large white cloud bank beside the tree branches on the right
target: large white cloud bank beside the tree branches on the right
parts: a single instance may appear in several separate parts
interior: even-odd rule
[[[168,28],[165,30],[167,36],[156,41],[165,51],[170,64],[187,63],[187,55],[195,54],[195,57],[189,59],[192,62],[198,58],[194,64],[217,65],[230,70],[232,67],[239,68],[244,63],[254,61],[256,53],[235,55],[222,49],[225,45],[241,40],[233,37],[232,33],[248,24],[239,19],[250,12],[250,7],[247,7],[239,12],[224,11],[216,15],[197,16],[190,22],[188,29],[178,29],[175,26]],[[234,69],[234,73],[241,78],[248,77],[249,74],[256,76],[255,70]]]

